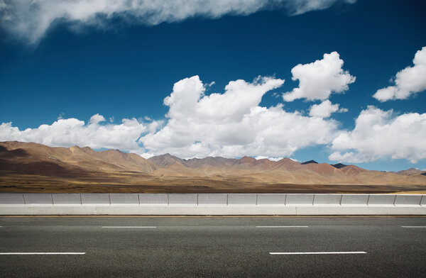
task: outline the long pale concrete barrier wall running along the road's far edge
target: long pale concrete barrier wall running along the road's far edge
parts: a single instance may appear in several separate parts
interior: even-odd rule
[[[0,215],[426,215],[415,194],[0,194]]]

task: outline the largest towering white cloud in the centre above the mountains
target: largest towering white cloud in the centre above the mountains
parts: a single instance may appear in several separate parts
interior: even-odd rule
[[[282,105],[259,106],[262,96],[283,82],[271,77],[236,80],[223,94],[206,96],[200,77],[182,79],[164,99],[168,122],[139,142],[155,155],[170,152],[184,158],[285,157],[308,145],[330,143],[335,121],[289,113]]]

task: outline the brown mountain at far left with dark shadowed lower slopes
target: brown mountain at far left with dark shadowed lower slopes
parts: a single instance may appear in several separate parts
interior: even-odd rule
[[[91,148],[50,148],[38,143],[0,143],[1,169],[13,168],[19,172],[44,174],[67,172],[141,172],[148,174],[157,167],[140,155]],[[43,165],[46,168],[43,168]],[[40,168],[39,170],[37,170]],[[62,169],[62,170],[61,170]]]

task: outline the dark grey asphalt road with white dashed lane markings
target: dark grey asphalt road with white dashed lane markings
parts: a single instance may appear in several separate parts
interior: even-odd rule
[[[426,217],[1,217],[0,226],[1,277],[426,275]]]

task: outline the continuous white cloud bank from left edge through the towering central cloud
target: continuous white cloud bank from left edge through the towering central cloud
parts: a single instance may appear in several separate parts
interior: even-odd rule
[[[336,121],[288,112],[283,104],[259,106],[268,91],[283,83],[283,79],[273,77],[258,77],[253,82],[236,80],[229,82],[222,94],[206,95],[206,86],[194,76],[176,82],[164,99],[169,107],[165,121],[124,118],[118,124],[94,114],[87,123],[59,118],[26,130],[2,123],[0,141],[118,148],[146,158],[170,152],[182,158],[251,155],[271,160],[310,145],[331,143],[337,134]]]

